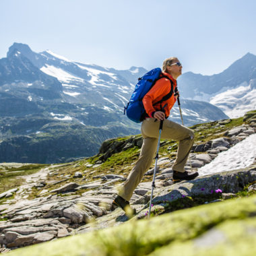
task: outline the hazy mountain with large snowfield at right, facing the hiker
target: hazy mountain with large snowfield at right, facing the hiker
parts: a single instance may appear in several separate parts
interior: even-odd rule
[[[179,91],[185,98],[210,102],[229,117],[241,117],[256,106],[256,56],[247,53],[216,75],[184,73]]]

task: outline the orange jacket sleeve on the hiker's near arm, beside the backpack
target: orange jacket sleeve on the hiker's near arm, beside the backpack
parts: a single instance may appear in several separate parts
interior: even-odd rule
[[[170,82],[167,79],[159,79],[150,91],[143,97],[143,106],[149,117],[157,109],[153,104],[161,100],[170,91]]]

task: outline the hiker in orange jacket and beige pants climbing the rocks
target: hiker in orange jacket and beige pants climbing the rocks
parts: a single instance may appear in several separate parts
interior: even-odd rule
[[[164,60],[162,65],[163,75],[170,78],[173,82],[175,94],[172,94],[168,100],[159,102],[163,96],[170,92],[170,80],[162,77],[156,81],[156,84],[143,97],[143,106],[146,110],[146,118],[141,124],[141,135],[143,137],[143,145],[135,166],[131,170],[127,180],[119,189],[119,195],[113,201],[113,208],[125,207],[129,205],[129,200],[133,191],[139,185],[143,174],[150,168],[152,160],[156,154],[158,143],[160,121],[163,120],[162,139],[174,139],[179,141],[179,148],[177,151],[177,159],[175,160],[173,170],[173,181],[192,180],[198,176],[198,172],[187,172],[184,168],[189,152],[193,146],[194,133],[191,129],[179,125],[168,120],[170,109],[176,102],[179,92],[177,89],[177,78],[182,73],[183,66],[177,57],[170,57]],[[164,106],[164,109],[162,109]]]

